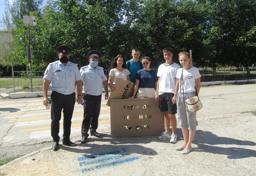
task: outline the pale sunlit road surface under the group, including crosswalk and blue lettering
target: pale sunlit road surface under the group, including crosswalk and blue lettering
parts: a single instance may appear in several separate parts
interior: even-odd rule
[[[256,84],[202,87],[203,109],[193,151],[157,136],[111,138],[110,110],[102,101],[98,132],[80,144],[83,108],[75,106],[71,140],[51,149],[50,111],[42,98],[0,100],[0,158],[23,155],[0,167],[0,175],[256,175]],[[62,128],[61,128],[62,129]],[[60,136],[62,131],[60,131]]]

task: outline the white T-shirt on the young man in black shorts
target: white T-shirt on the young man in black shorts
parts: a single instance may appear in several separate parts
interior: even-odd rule
[[[158,67],[157,77],[160,77],[158,89],[159,95],[165,92],[175,92],[175,77],[179,68],[179,65],[175,62],[171,65],[165,65],[165,63],[163,63]]]

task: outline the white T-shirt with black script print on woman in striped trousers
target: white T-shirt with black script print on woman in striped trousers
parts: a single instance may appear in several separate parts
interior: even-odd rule
[[[180,80],[181,78],[182,68],[177,71],[177,78]],[[195,79],[201,77],[198,68],[191,67],[189,70],[183,70],[183,87],[184,93],[195,92],[196,82]],[[181,88],[180,88],[181,87]],[[180,81],[179,92],[183,93],[182,83]]]

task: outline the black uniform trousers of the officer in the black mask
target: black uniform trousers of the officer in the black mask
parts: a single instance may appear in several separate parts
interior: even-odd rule
[[[60,118],[61,111],[63,109],[63,141],[69,142],[69,136],[71,131],[71,119],[76,102],[75,92],[69,95],[64,95],[62,93],[52,91],[51,99],[51,135],[53,141],[59,142],[60,140]]]

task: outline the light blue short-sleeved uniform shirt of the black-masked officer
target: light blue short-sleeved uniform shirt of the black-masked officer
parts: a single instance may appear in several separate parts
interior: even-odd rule
[[[75,63],[68,61],[64,66],[60,61],[55,61],[46,68],[44,79],[51,80],[52,91],[69,95],[75,92],[76,81],[81,80],[81,75]]]

